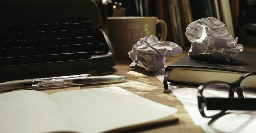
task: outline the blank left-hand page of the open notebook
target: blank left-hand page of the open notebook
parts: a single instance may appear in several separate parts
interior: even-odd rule
[[[0,96],[0,133],[83,132],[53,98],[39,91]]]

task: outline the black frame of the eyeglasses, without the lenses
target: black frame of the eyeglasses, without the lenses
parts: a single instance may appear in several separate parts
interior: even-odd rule
[[[206,118],[214,118],[223,115],[227,110],[256,110],[256,98],[246,98],[243,95],[243,89],[240,86],[243,79],[250,75],[256,74],[255,72],[247,73],[240,78],[238,78],[233,83],[227,83],[222,81],[210,81],[206,82],[203,85],[198,87],[197,99],[198,99],[198,109],[200,114]],[[255,81],[256,82],[256,81]],[[213,84],[223,84],[227,86],[229,96],[228,98],[219,98],[219,97],[204,97],[203,90]],[[217,88],[218,89],[218,88]],[[219,88],[223,89],[223,88]],[[237,93],[238,98],[234,97],[234,92]],[[219,110],[220,112],[207,116],[205,114],[204,108],[207,107],[207,110]]]

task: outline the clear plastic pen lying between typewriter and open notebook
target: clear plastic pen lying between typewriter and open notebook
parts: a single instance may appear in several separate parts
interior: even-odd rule
[[[126,77],[118,75],[106,76],[90,76],[89,74],[36,78],[7,81],[0,84],[0,91],[8,91],[16,88],[30,88],[30,89],[52,89],[63,88],[74,85],[89,85],[99,83],[113,83],[124,80]]]

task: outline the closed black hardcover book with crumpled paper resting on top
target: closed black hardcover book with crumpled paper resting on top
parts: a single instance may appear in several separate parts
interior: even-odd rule
[[[243,51],[230,62],[199,60],[185,56],[166,67],[163,84],[167,91],[167,81],[189,85],[200,85],[211,80],[234,82],[243,74],[255,70],[256,52],[253,51]],[[256,79],[256,76],[253,77]]]

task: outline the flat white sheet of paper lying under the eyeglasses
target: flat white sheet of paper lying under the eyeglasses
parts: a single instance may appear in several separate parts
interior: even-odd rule
[[[160,72],[163,72],[162,75]],[[154,73],[163,81],[164,71]],[[207,133],[255,133],[256,111],[227,111],[227,114],[216,120],[204,118],[198,110],[197,87],[172,86],[168,88],[184,105],[195,125],[200,125]],[[222,95],[220,92],[208,92],[208,95]],[[255,95],[254,95],[255,97]]]

